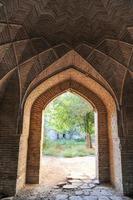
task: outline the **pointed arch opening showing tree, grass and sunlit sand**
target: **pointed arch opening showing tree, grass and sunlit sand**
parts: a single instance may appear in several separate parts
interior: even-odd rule
[[[70,177],[73,184],[78,178],[81,184],[97,178],[96,118],[96,108],[72,89],[45,106],[42,111],[41,184],[51,187],[64,181],[71,185]]]

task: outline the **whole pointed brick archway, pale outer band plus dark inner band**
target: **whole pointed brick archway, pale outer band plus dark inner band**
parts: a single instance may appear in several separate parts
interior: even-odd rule
[[[121,157],[117,129],[117,112],[111,95],[96,81],[67,69],[41,83],[28,97],[24,109],[23,133],[20,138],[17,190],[26,182],[39,183],[41,158],[42,110],[56,96],[72,89],[90,101],[98,113],[97,176],[110,181],[122,191]],[[116,151],[118,155],[116,155]],[[28,152],[28,153],[27,153]]]

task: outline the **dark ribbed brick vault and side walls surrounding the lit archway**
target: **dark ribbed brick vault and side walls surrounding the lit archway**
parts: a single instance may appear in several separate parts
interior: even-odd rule
[[[129,0],[0,0],[0,188],[3,191],[9,189],[7,182],[10,188],[15,188],[16,175],[12,175],[7,163],[17,169],[17,141],[22,133],[28,95],[44,79],[65,70],[64,66],[73,65],[106,89],[117,104],[123,188],[125,193],[132,193],[132,13],[133,4]],[[58,68],[61,59],[62,67]]]

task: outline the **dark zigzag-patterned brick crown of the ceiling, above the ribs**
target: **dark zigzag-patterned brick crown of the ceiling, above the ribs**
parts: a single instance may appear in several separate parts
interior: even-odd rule
[[[132,40],[132,0],[1,0],[1,21],[25,27],[29,36],[45,37],[51,45],[105,38]]]

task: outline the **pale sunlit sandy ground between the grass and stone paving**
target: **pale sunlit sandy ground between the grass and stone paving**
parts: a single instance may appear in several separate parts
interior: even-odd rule
[[[41,163],[41,184],[51,187],[65,181],[69,175],[95,178],[95,156],[63,158],[44,156]]]

